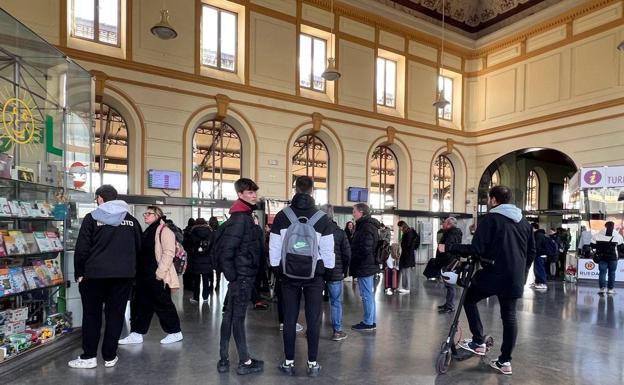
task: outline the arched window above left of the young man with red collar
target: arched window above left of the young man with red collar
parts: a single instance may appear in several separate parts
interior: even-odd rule
[[[241,177],[241,140],[229,124],[209,120],[193,135],[193,196],[237,199],[234,182]]]

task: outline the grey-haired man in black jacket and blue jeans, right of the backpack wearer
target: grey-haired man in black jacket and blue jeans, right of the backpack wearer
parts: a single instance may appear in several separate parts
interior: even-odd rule
[[[360,296],[364,307],[364,319],[353,325],[351,329],[359,331],[373,331],[377,328],[375,322],[375,295],[373,277],[379,272],[379,265],[375,262],[375,249],[379,242],[379,221],[370,215],[370,207],[366,203],[353,206],[355,219],[355,233],[351,241],[351,275],[358,279]]]

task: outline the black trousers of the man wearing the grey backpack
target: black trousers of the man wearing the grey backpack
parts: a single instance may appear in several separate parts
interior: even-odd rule
[[[321,329],[321,305],[323,303],[323,277],[294,280],[282,277],[282,298],[284,307],[284,355],[287,360],[295,359],[296,324],[299,317],[301,294],[305,297],[306,337],[308,339],[308,361],[316,361]]]

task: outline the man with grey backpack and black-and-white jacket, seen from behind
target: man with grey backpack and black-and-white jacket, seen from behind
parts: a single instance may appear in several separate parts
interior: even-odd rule
[[[315,207],[314,181],[300,176],[295,181],[296,193],[291,205],[275,216],[269,238],[271,266],[280,275],[284,311],[284,355],[279,369],[288,375],[295,370],[296,324],[301,294],[305,296],[305,316],[308,340],[307,373],[319,375],[317,362],[323,276],[325,268],[333,269],[334,226],[331,220]]]

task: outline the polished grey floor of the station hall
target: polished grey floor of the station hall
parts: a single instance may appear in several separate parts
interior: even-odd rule
[[[188,293],[176,296],[184,341],[162,346],[157,320],[140,346],[119,348],[119,363],[104,368],[76,370],[67,361],[80,353],[79,346],[50,357],[2,381],[4,384],[622,384],[624,383],[624,289],[598,296],[595,284],[550,283],[546,293],[526,290],[518,305],[520,332],[513,355],[513,375],[503,376],[474,357],[453,362],[449,372],[436,375],[434,363],[451,320],[435,308],[443,301],[444,287],[421,279],[416,270],[415,290],[408,295],[386,296],[377,286],[377,331],[360,334],[349,325],[361,320],[357,287],[345,282],[344,321],[348,338],[329,339],[331,324],[326,304],[321,331],[321,377],[305,376],[304,334],[297,339],[296,377],[276,369],[283,359],[277,312],[250,310],[247,333],[250,351],[265,361],[259,375],[238,376],[232,369],[219,374],[218,337],[220,296],[192,305]],[[221,293],[221,296],[223,293]],[[496,299],[484,302],[481,314],[486,332],[497,340],[502,334]],[[303,320],[303,315],[300,317]],[[462,318],[463,337],[467,323]],[[468,336],[469,337],[469,336]],[[236,360],[234,341],[231,358]]]

